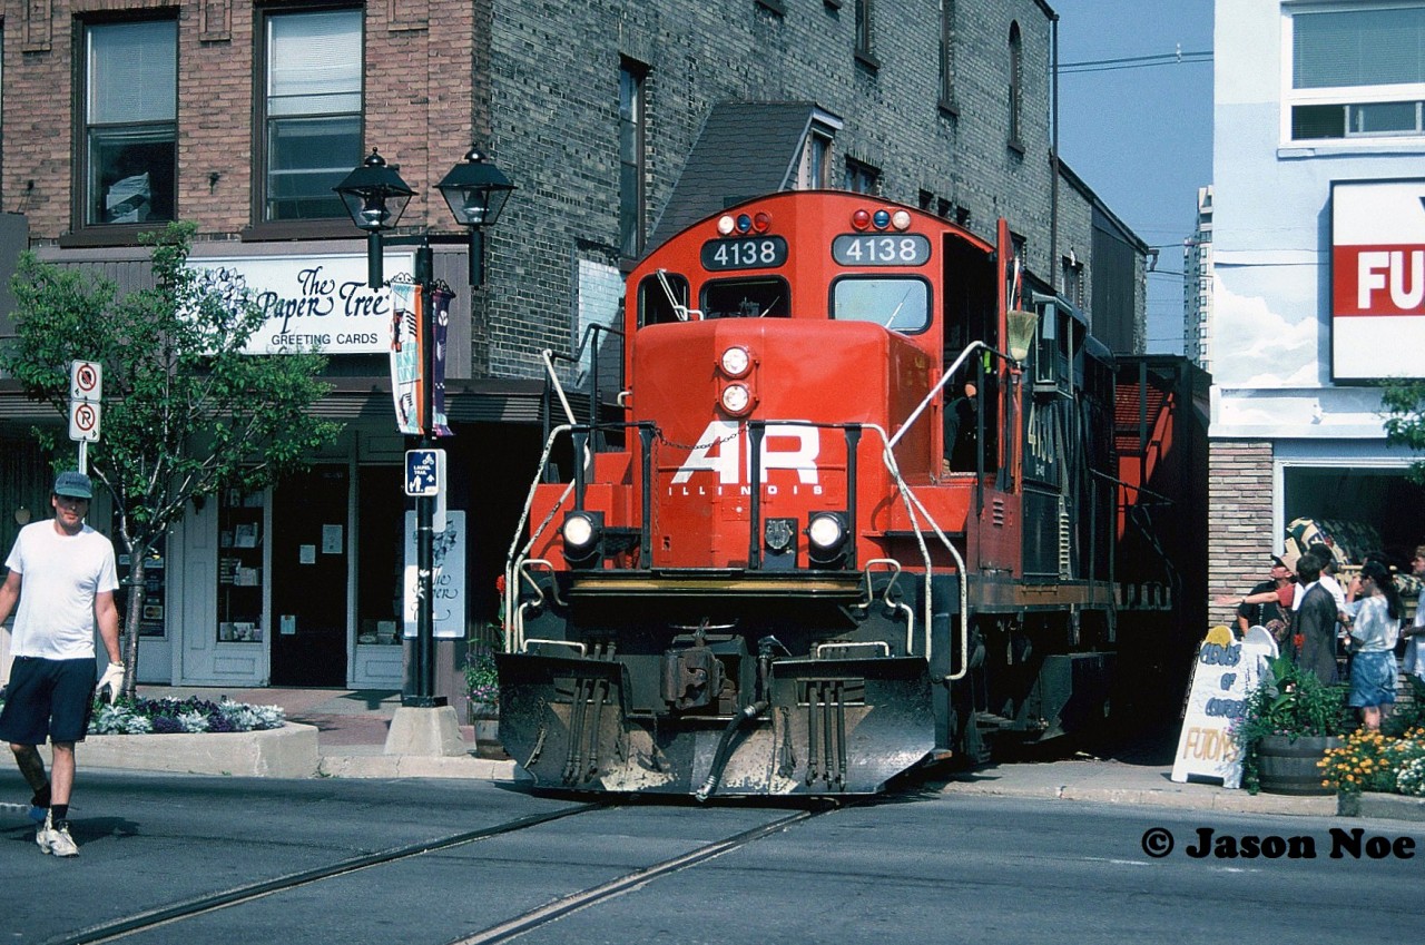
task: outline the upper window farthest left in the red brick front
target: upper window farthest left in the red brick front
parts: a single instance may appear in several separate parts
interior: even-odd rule
[[[174,220],[178,24],[84,27],[83,225]]]

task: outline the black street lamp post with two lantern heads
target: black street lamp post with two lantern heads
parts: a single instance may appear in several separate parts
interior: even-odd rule
[[[415,195],[415,191],[400,180],[399,167],[390,167],[372,148],[370,155],[362,161],[361,167],[346,175],[333,190],[346,204],[346,212],[358,229],[366,234],[366,281],[373,289],[385,285],[383,272],[383,241],[382,234],[392,229],[400,221],[400,214]],[[504,201],[514,185],[486,157],[475,147],[465,157],[463,164],[457,164],[445,180],[437,184],[445,195],[450,211],[462,227],[470,229],[470,286],[483,284],[483,251],[484,239],[482,229],[494,225]],[[412,272],[416,289],[420,292],[422,319],[420,351],[422,363],[422,405],[420,416],[420,449],[430,449],[435,443],[435,318],[432,305],[432,288],[435,281],[433,254],[430,244],[422,235],[416,248],[415,272]],[[433,580],[435,580],[435,520],[436,497],[430,495],[416,496],[416,646],[415,646],[415,681],[408,686],[410,691],[403,691],[400,704],[413,708],[439,708],[446,704],[443,696],[435,694],[435,617],[433,617]]]

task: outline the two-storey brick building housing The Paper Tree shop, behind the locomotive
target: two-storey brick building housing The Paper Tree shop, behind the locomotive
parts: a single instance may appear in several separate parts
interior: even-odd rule
[[[457,435],[445,446],[450,506],[469,515],[460,609],[472,626],[494,616],[493,579],[542,445],[542,352],[571,355],[591,325],[610,325],[628,264],[730,200],[871,190],[986,237],[1005,217],[1032,272],[1070,288],[1116,348],[1141,349],[1146,247],[1056,161],[1057,14],[1042,0],[601,0],[557,16],[523,0],[3,10],[7,267],[28,245],[137,286],[137,234],[178,218],[198,224],[195,262],[284,298],[314,267],[358,284],[365,242],[331,187],[372,148],[399,164],[415,190],[402,229],[428,234],[455,291]],[[435,191],[472,141],[519,188],[486,232],[476,289],[466,234]],[[388,277],[410,268],[393,242]],[[0,335],[10,331],[0,308]],[[383,344],[323,345],[335,389],[321,409],[346,430],[311,473],[219,496],[174,533],[145,681],[399,684],[405,443]],[[580,365],[560,371],[580,383]],[[53,418],[0,381],[7,509],[47,509],[27,433],[41,420]],[[314,495],[323,500],[304,500]],[[10,520],[0,516],[6,546]],[[301,557],[314,543],[316,564]],[[281,577],[292,569],[335,593]]]

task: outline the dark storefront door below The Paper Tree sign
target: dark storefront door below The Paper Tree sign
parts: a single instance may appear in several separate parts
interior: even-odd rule
[[[346,684],[349,472],[314,466],[272,490],[272,684]]]

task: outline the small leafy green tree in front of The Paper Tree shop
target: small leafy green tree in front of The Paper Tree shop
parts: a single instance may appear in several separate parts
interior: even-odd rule
[[[134,694],[148,556],[191,499],[262,489],[331,440],[316,418],[326,392],[318,353],[245,355],[262,311],[231,274],[187,265],[192,224],[148,234],[152,288],[118,296],[107,278],[24,254],[14,279],[16,342],[0,352],[37,401],[68,416],[70,362],[104,368],[101,439],[90,473],[114,500],[128,554],[124,691]],[[53,433],[37,430],[51,452]]]

